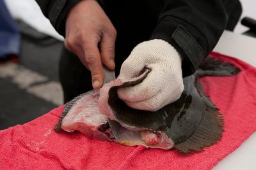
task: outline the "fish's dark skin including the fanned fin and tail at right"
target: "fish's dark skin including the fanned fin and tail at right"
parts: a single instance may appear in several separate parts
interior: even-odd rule
[[[184,92],[180,99],[164,106],[158,111],[134,110],[118,98],[117,90],[121,87],[136,85],[143,81],[132,81],[109,90],[108,104],[118,122],[122,124],[164,132],[175,143],[180,152],[201,151],[221,139],[223,118],[211,99],[204,94],[198,78],[202,76],[233,76],[239,69],[208,57],[195,74],[183,79]]]

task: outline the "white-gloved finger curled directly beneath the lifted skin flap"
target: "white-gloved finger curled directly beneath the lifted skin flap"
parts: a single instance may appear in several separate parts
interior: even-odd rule
[[[138,102],[155,96],[161,88],[159,76],[157,71],[151,71],[138,85],[118,89],[118,97],[124,101]]]

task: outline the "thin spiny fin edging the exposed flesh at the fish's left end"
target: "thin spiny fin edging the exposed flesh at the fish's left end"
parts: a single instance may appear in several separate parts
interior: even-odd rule
[[[56,132],[60,132],[61,131],[61,124],[62,124],[62,120],[63,118],[65,118],[65,116],[67,115],[68,111],[70,111],[70,109],[72,108],[72,106],[74,105],[74,103],[76,103],[76,101],[78,101],[79,99],[81,99],[81,97],[83,97],[85,94],[87,94],[88,92],[84,93],[84,94],[80,94],[79,96],[75,97],[74,99],[72,99],[71,101],[69,101],[65,107],[63,108],[63,111],[60,115],[61,119],[58,120],[57,124],[54,127],[54,131]]]

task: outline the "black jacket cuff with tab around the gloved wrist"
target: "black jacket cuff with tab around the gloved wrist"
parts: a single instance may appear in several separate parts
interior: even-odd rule
[[[207,49],[204,36],[192,25],[176,17],[166,16],[160,20],[150,39],[163,39],[180,53],[183,59],[183,76],[193,74],[207,55],[207,52],[202,50]],[[201,44],[205,45],[204,48],[200,46]]]

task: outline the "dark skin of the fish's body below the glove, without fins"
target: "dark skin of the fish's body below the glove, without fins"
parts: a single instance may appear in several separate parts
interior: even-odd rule
[[[195,132],[205,110],[204,101],[195,89],[194,83],[195,76],[184,78],[184,92],[180,99],[158,111],[130,108],[118,98],[116,90],[120,87],[109,90],[108,103],[118,122],[154,132],[164,132],[174,143],[180,143]],[[126,85],[130,86],[130,83]]]

